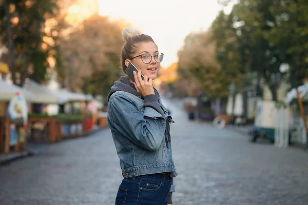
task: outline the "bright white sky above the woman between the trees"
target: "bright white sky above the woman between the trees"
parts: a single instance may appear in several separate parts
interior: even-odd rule
[[[99,14],[125,19],[150,35],[164,53],[163,67],[177,61],[177,52],[190,32],[206,31],[221,9],[217,0],[98,0]]]

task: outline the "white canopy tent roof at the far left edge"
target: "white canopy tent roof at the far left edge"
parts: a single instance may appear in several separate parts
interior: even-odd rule
[[[16,92],[24,95],[28,101],[33,101],[34,95],[23,88],[7,84],[4,80],[0,80],[0,101],[10,101]]]

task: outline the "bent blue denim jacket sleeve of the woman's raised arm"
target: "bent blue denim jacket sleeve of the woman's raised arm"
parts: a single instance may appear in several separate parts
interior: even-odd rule
[[[165,138],[166,119],[155,109],[138,111],[130,99],[120,94],[109,100],[108,110],[114,129],[139,147],[156,151]]]

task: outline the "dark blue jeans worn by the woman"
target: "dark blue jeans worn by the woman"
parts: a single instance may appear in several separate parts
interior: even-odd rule
[[[171,177],[162,174],[148,174],[128,177],[122,180],[115,205],[167,205]]]

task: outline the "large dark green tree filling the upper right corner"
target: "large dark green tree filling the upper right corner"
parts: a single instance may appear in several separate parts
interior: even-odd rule
[[[307,76],[307,12],[304,0],[241,0],[225,17],[229,23],[225,32],[236,36],[243,71],[257,72],[271,89],[273,100],[282,63],[291,65],[293,86]],[[227,43],[222,41],[221,46],[226,48]]]

